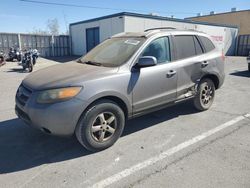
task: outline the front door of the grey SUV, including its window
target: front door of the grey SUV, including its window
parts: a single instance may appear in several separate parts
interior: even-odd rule
[[[168,37],[152,41],[142,56],[153,56],[157,65],[132,72],[133,112],[164,105],[176,99],[177,67],[171,63]]]

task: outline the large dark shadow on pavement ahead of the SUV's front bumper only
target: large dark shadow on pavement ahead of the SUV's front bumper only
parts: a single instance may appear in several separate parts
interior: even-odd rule
[[[0,174],[90,154],[74,137],[45,135],[19,119],[0,123],[0,151]]]

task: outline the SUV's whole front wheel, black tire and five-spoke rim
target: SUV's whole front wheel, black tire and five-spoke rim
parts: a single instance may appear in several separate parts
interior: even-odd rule
[[[100,100],[82,114],[75,134],[87,150],[96,152],[112,146],[121,136],[124,125],[122,109],[111,100]]]

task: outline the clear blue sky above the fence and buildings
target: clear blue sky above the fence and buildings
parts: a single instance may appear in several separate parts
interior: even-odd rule
[[[57,18],[60,31],[65,32],[67,24],[118,13],[122,11],[138,13],[158,13],[161,16],[174,15],[176,18],[208,14],[210,11],[225,12],[232,7],[238,10],[250,9],[250,0],[38,0],[75,4],[83,6],[105,7],[111,9],[91,9],[28,3],[19,0],[1,0],[0,32],[32,32],[34,29],[46,29],[48,19]]]

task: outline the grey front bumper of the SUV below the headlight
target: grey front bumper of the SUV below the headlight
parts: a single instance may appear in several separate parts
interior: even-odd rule
[[[25,103],[20,101],[20,96],[16,96],[15,111],[25,123],[43,132],[71,136],[86,105],[77,98],[53,104],[38,104],[36,93],[32,92]]]

